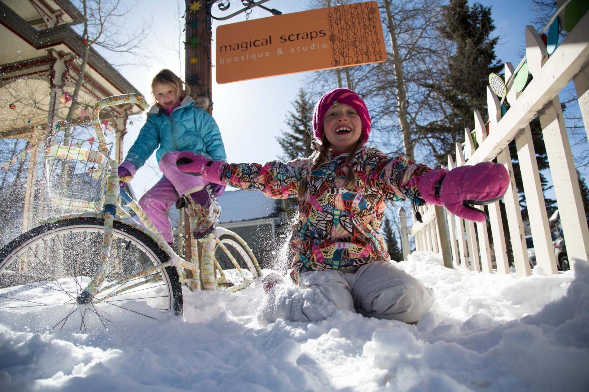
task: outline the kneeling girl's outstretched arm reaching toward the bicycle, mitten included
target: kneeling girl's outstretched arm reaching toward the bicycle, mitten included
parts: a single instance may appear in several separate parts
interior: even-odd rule
[[[202,175],[214,184],[231,185],[249,191],[262,191],[272,198],[296,197],[306,160],[271,161],[266,164],[228,164],[186,151],[178,155],[178,169]]]

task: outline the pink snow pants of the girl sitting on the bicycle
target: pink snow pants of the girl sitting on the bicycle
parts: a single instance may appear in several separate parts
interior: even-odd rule
[[[176,157],[179,151],[166,152],[160,160],[160,170],[163,177],[139,200],[139,206],[160,231],[166,242],[173,242],[172,227],[168,219],[168,210],[178,198],[191,195],[194,202],[208,208],[211,200],[209,191],[204,187],[210,182],[202,177],[195,177],[178,170]]]

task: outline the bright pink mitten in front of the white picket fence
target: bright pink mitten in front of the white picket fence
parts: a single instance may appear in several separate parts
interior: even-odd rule
[[[476,222],[487,216],[472,204],[490,204],[507,191],[509,173],[501,164],[481,162],[448,171],[435,169],[419,178],[418,191],[426,202],[444,205],[452,214]]]

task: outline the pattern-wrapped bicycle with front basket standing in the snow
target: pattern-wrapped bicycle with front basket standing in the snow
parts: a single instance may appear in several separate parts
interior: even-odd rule
[[[237,291],[262,275],[246,242],[216,225],[220,214],[216,201],[211,204],[217,209],[213,230],[191,238],[188,261],[174,252],[137,202],[121,190],[118,162],[110,158],[112,143],[107,144],[98,115],[102,108],[120,104],[147,107],[140,94],[104,98],[92,110],[98,142],[48,138],[48,207],[70,214],[41,222],[0,250],[0,317],[22,317],[50,331],[79,324],[87,332],[92,325],[107,328],[111,318],[123,313],[155,319],[162,313],[180,315],[183,286]],[[118,204],[119,196],[125,207]],[[71,214],[71,210],[80,212]],[[190,205],[188,211],[192,229]],[[43,301],[38,300],[41,296]],[[41,322],[35,311],[47,306],[55,312],[52,320]]]

